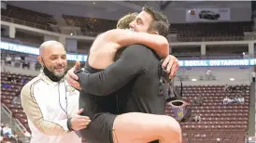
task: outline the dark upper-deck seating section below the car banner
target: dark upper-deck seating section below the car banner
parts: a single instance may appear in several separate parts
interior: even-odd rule
[[[177,33],[180,42],[238,41],[244,32],[252,32],[252,22],[218,22],[172,24],[171,33]]]

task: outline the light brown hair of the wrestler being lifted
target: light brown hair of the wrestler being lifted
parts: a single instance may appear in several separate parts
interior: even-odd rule
[[[117,28],[118,29],[130,29],[130,26],[129,24],[135,20],[137,16],[137,13],[129,13],[125,16],[123,16],[119,21],[118,21],[118,24],[117,24]]]

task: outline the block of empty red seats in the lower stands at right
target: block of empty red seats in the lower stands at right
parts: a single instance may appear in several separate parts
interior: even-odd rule
[[[193,120],[181,123],[183,143],[221,143],[245,142],[249,124],[249,85],[237,85],[246,90],[225,92],[224,85],[184,85],[183,99],[189,102],[188,110],[192,117],[200,116],[200,122]],[[177,87],[180,90],[180,86]],[[245,103],[224,105],[224,97],[244,97]],[[194,97],[202,99],[201,104],[192,103]],[[174,116],[170,105],[166,114]]]

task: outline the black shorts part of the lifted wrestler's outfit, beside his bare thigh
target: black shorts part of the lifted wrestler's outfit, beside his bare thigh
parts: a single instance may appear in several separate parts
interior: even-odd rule
[[[113,124],[117,115],[111,113],[98,113],[91,118],[92,123],[86,129],[80,130],[80,134],[87,143],[114,143]]]

